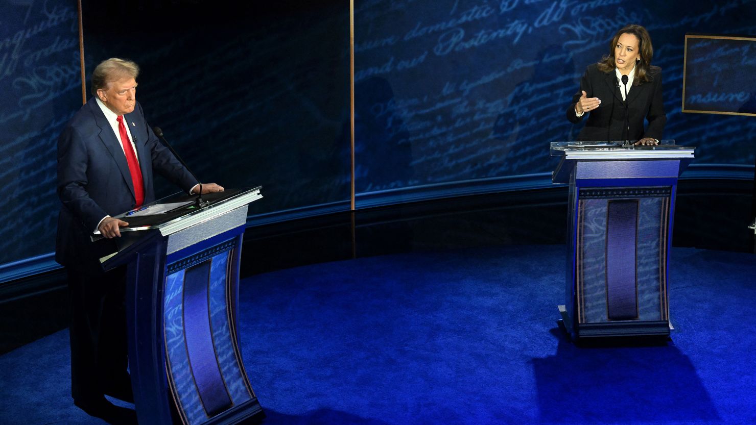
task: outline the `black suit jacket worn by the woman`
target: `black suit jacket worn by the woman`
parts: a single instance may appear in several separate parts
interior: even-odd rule
[[[628,140],[637,141],[643,137],[662,140],[662,133],[667,122],[662,97],[662,69],[651,66],[649,69],[651,81],[633,85],[627,91],[627,110],[630,118],[630,136]],[[623,140],[624,133],[624,100],[619,88],[617,75],[614,70],[601,72],[595,63],[588,66],[580,80],[580,90],[572,97],[572,103],[567,108],[567,119],[577,124],[587,115],[588,121],[578,134],[580,141],[608,141]],[[581,91],[587,97],[598,97],[601,106],[585,115],[575,114],[575,103],[580,100]],[[643,121],[647,119],[648,127],[643,129]]]

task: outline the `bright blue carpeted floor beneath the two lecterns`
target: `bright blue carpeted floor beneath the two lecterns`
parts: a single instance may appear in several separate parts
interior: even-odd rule
[[[398,254],[253,276],[240,337],[266,424],[756,423],[756,256],[675,248],[662,345],[556,326],[561,246]],[[103,423],[68,336],[0,357],[0,422]]]

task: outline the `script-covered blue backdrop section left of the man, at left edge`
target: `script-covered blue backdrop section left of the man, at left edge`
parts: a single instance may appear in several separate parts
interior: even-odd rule
[[[76,2],[0,2],[0,276],[54,250],[56,142],[80,72]]]

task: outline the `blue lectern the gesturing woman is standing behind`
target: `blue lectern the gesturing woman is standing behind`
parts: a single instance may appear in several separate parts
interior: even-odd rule
[[[573,340],[669,335],[668,252],[677,177],[695,148],[553,142],[569,183],[565,305]]]

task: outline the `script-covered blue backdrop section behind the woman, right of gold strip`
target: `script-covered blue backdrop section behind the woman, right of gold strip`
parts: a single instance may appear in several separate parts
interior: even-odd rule
[[[698,164],[752,167],[756,119],[680,109],[685,33],[754,34],[754,18],[748,1],[356,2],[357,191],[482,179],[506,186],[518,180],[503,177],[551,171],[547,142],[580,130],[565,109],[581,75],[627,23],[652,35],[665,138],[699,146]],[[740,63],[736,53],[717,63]]]

